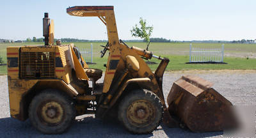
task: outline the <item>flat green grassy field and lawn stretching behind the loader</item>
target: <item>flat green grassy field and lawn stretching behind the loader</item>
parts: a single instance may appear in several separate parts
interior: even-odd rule
[[[75,42],[77,47],[86,47],[90,49],[90,42]],[[19,46],[19,45],[43,45],[43,43],[0,43],[0,56],[3,57],[6,63],[6,47]],[[100,50],[102,47],[99,45],[106,45],[106,43],[93,43],[93,62],[96,65],[89,65],[92,68],[99,68],[105,70],[103,66],[106,64],[108,54],[104,58],[100,58]],[[141,42],[129,42],[129,47],[136,46],[145,49],[146,44]],[[221,43],[193,43],[193,46],[200,47],[221,47]],[[189,43],[150,43],[149,50],[155,55],[161,57],[168,57],[170,63],[166,70],[256,70],[256,44],[225,44],[225,57],[223,64],[185,64],[189,61]],[[156,63],[160,63],[157,59],[152,59]],[[156,70],[158,65],[149,65],[152,70]],[[6,74],[6,66],[0,66],[0,73]]]

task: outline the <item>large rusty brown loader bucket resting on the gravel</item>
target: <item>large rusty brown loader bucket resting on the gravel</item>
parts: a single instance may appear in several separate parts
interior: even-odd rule
[[[200,77],[183,76],[173,83],[168,111],[192,132],[220,131],[228,127],[232,104]]]

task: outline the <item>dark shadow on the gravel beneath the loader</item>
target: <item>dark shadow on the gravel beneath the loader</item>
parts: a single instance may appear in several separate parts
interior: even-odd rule
[[[27,121],[13,118],[0,119],[1,137],[211,137],[222,135],[222,132],[193,133],[181,128],[168,128],[161,124],[152,134],[134,135],[127,132],[117,121],[102,121],[92,116],[76,119],[72,127],[61,135],[44,135],[33,128]]]

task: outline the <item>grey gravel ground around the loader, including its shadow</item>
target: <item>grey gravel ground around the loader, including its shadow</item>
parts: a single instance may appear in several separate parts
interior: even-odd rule
[[[163,82],[165,97],[172,83],[182,75],[197,75],[214,82],[214,88],[234,105],[256,105],[255,70],[166,72]],[[10,118],[6,76],[0,76],[0,86],[0,137],[223,137],[223,132],[193,133],[181,128],[168,128],[163,124],[152,134],[132,135],[118,122],[101,121],[94,116],[80,116],[65,134],[43,135],[30,125],[29,119],[21,122]]]

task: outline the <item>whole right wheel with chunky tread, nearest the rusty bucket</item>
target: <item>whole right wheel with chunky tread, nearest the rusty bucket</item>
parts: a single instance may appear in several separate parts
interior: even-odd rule
[[[159,126],[163,106],[156,94],[136,89],[120,102],[118,119],[133,134],[148,134]]]

